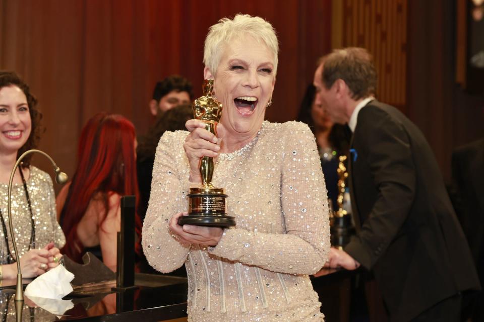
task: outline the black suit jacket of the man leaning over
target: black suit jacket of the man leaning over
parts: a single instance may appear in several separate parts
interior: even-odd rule
[[[357,117],[349,185],[357,234],[345,251],[373,270],[392,321],[479,288],[434,154],[396,108],[371,101]]]

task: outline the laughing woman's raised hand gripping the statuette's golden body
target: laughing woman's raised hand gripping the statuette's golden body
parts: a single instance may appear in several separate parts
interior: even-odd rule
[[[183,148],[190,163],[190,181],[202,182],[200,175],[200,158],[202,156],[216,157],[220,150],[221,137],[223,136],[222,124],[217,124],[217,138],[213,133],[205,129],[205,123],[200,120],[188,120],[185,123],[190,134],[185,139]]]

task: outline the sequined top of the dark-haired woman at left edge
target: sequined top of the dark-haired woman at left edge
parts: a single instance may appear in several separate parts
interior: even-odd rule
[[[66,238],[61,226],[56,220],[55,194],[50,176],[30,166],[30,176],[26,179],[27,191],[29,192],[32,205],[32,213],[35,218],[35,248],[43,248],[53,241],[57,248],[66,244]],[[0,184],[0,207],[6,224],[9,240],[9,248],[14,258],[14,247],[9,229],[9,215],[7,209],[8,185]],[[12,221],[16,232],[17,248],[20,254],[25,254],[30,248],[30,236],[32,223],[30,211],[25,196],[23,184],[14,184],[12,187]],[[5,230],[0,221],[0,263],[7,263],[7,244],[5,243]]]

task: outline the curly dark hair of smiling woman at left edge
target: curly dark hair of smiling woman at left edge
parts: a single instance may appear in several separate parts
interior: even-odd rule
[[[37,109],[37,99],[30,93],[29,86],[13,71],[0,71],[0,89],[8,86],[16,86],[24,92],[27,98],[27,104],[29,105],[30,119],[32,122],[32,129],[30,135],[24,145],[18,150],[17,158],[27,150],[37,147],[40,139],[40,134],[43,133],[44,128],[41,125],[42,113]],[[28,168],[32,154],[27,155],[22,161],[22,166]]]

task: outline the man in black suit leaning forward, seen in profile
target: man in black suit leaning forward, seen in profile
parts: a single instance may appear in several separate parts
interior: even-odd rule
[[[460,292],[479,281],[434,154],[398,109],[375,98],[362,48],[321,60],[316,103],[353,132],[348,169],[357,234],[327,266],[373,271],[391,321],[459,321]]]

